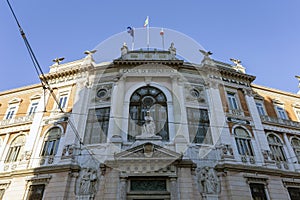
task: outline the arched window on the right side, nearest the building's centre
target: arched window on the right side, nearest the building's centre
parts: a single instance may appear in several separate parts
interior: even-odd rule
[[[234,135],[239,154],[243,156],[254,156],[251,136],[248,132],[242,127],[237,127],[234,129]]]

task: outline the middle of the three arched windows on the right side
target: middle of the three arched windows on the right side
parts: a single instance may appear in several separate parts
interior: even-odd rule
[[[286,157],[283,150],[283,144],[281,140],[274,134],[268,135],[269,147],[272,152],[272,160],[286,161]]]

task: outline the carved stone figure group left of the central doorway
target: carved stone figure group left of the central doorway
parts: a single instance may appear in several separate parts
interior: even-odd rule
[[[97,183],[97,171],[91,168],[84,169],[79,183],[80,195],[94,194]]]

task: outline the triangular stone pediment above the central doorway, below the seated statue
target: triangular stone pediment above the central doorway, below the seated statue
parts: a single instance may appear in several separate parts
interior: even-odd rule
[[[115,160],[143,160],[143,159],[155,159],[155,160],[177,160],[182,157],[175,151],[166,149],[162,146],[146,142],[144,144],[132,147],[120,153],[114,155]]]

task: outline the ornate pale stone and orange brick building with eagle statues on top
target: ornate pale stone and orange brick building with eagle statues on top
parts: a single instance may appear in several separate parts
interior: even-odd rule
[[[50,67],[51,88],[1,92],[0,197],[299,199],[300,96],[174,46],[86,52]]]

